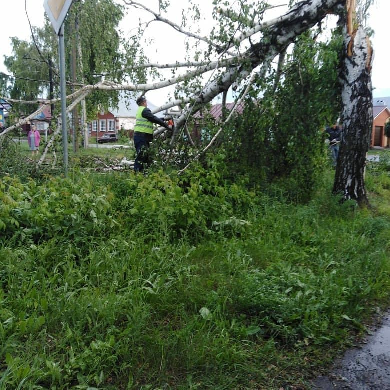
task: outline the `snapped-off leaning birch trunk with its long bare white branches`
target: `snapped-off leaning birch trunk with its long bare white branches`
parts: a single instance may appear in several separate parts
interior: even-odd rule
[[[127,3],[131,3],[148,10],[139,3],[135,3],[133,1],[127,1]],[[275,58],[277,54],[283,52],[283,50],[285,50],[286,47],[292,43],[299,34],[318,23],[320,20],[326,17],[327,14],[334,13],[337,7],[342,7],[344,4],[345,0],[301,1],[283,16],[270,20],[266,23],[262,23],[251,30],[245,31],[239,37],[237,37],[237,39],[234,39],[233,44],[247,39],[249,36],[254,35],[258,31],[262,32],[262,38],[257,43],[252,43],[248,50],[242,54],[239,54],[238,56],[227,59],[220,58],[218,61],[197,66],[194,70],[188,71],[185,75],[180,75],[165,81],[151,84],[121,85],[104,81],[96,85],[85,85],[76,92],[67,96],[67,99],[74,99],[74,102],[71,105],[71,107],[73,107],[76,103],[82,100],[82,97],[86,93],[92,90],[130,90],[146,92],[148,90],[159,89],[165,86],[177,84],[184,80],[199,76],[210,70],[215,70],[217,68],[222,70],[225,69],[222,73],[222,76],[215,77],[206,83],[202,90],[188,97],[186,101],[190,100],[192,101],[192,104],[189,105],[188,108],[184,110],[183,114],[175,121],[175,129],[177,132],[185,125],[189,115],[197,112],[202,104],[210,102],[215,96],[228,90],[234,82],[243,82],[251,74],[254,68],[256,68],[258,65],[269,63],[273,58]],[[157,16],[159,20],[162,20],[159,15]],[[163,21],[172,25],[174,28],[177,27],[167,20]],[[179,28],[178,31],[191,36],[190,33],[182,30],[181,28]],[[197,35],[193,35],[192,37],[201,39],[201,37]],[[212,43],[207,40],[205,41],[207,43]],[[215,45],[213,45],[213,47],[215,47]],[[217,52],[227,52],[230,47],[231,45],[225,46],[223,48],[218,46]],[[199,63],[194,64],[198,65]],[[59,99],[55,99],[54,101],[58,100]],[[48,102],[49,101],[45,101],[44,103],[47,104]],[[14,128],[16,126],[12,127]],[[11,128],[7,129],[6,132],[10,130]],[[161,130],[157,131],[157,133],[159,132],[161,132]],[[0,136],[3,134],[0,134]],[[174,139],[175,137],[173,136],[172,142]]]

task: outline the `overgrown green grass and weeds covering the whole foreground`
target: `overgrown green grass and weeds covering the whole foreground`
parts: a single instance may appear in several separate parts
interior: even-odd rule
[[[330,169],[294,205],[222,164],[2,178],[0,388],[291,388],[364,329],[390,291],[388,171],[359,209]]]

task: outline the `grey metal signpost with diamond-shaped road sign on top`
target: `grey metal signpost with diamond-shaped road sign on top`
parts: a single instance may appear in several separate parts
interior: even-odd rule
[[[66,74],[65,74],[65,41],[63,36],[63,22],[73,0],[44,0],[43,7],[49,20],[58,35],[59,44],[59,80],[61,92],[61,122],[62,122],[62,147],[63,167],[67,176],[67,128],[66,128]]]

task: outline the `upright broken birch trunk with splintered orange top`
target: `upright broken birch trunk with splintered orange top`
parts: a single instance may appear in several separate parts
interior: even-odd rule
[[[348,8],[349,6],[349,8]],[[347,26],[341,82],[343,85],[340,152],[333,193],[367,205],[364,185],[366,153],[372,131],[371,43],[362,27],[354,29],[354,0],[347,0]]]

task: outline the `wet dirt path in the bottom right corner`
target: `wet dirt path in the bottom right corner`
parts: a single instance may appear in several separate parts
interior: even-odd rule
[[[390,311],[360,347],[348,350],[328,376],[312,383],[312,390],[390,390]]]

